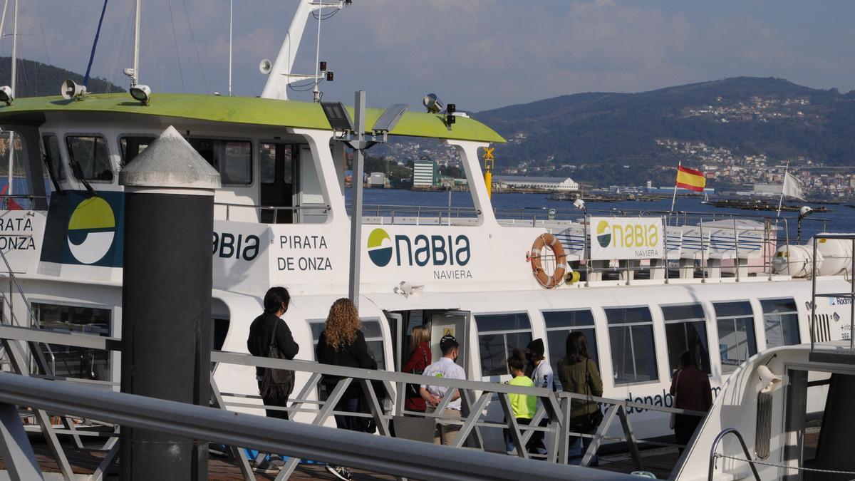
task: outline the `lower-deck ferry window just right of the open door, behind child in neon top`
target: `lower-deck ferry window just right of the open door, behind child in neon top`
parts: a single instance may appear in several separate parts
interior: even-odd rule
[[[525,312],[515,314],[476,314],[481,376],[504,376],[508,357],[514,349],[525,350],[532,341],[532,325]]]

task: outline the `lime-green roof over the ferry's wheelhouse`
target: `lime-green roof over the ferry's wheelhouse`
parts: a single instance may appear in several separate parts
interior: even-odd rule
[[[353,115],[352,107],[348,107]],[[44,122],[51,112],[89,112],[136,114],[292,128],[328,130],[329,122],[320,104],[271,98],[221,97],[203,94],[154,93],[148,105],[140,104],[127,93],[88,94],[85,100],[62,97],[15,98],[11,105],[0,104],[0,124]],[[374,125],[382,110],[366,109],[366,125]],[[452,140],[504,142],[492,128],[474,119],[457,116],[451,129],[445,127],[439,114],[406,112],[392,135],[432,137]]]

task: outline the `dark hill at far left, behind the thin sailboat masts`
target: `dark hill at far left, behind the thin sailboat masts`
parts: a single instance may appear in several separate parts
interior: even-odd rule
[[[0,56],[0,85],[9,85],[12,78],[12,58]],[[54,67],[42,62],[24,58],[18,59],[18,85],[16,97],[41,97],[59,95],[62,80],[71,79],[83,85],[83,75],[76,74],[65,68]],[[124,88],[115,86],[106,79],[92,77],[87,86],[89,92],[125,92]]]

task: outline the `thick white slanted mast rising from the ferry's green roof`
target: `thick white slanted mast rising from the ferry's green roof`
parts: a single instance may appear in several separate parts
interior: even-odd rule
[[[297,56],[300,39],[303,38],[303,32],[306,28],[306,23],[309,21],[309,15],[315,10],[337,6],[340,6],[340,3],[299,0],[297,12],[294,13],[291,26],[288,27],[288,33],[286,33],[285,40],[282,41],[282,46],[279,49],[279,54],[276,55],[276,60],[273,62],[273,68],[270,70],[268,81],[264,84],[262,98],[288,99],[288,83],[295,80],[291,75],[292,68],[294,67],[294,57]],[[304,75],[301,77],[305,78]]]

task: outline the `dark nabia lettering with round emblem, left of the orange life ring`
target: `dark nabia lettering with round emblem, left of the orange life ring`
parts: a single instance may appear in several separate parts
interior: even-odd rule
[[[384,229],[374,229],[367,243],[369,258],[374,265],[385,267],[392,258],[398,265],[428,264],[466,265],[471,258],[469,237],[466,235],[409,235],[390,236]]]

